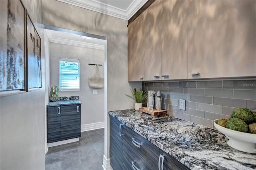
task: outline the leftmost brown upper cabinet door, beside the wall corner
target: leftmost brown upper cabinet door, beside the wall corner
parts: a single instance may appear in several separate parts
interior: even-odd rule
[[[128,81],[144,80],[143,13],[128,26]]]

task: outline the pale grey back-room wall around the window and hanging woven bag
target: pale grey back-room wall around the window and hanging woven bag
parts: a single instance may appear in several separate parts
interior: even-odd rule
[[[100,76],[104,77],[104,50],[78,47],[60,43],[50,43],[50,86],[59,86],[59,59],[70,58],[80,60],[80,90],[60,91],[59,96],[79,96],[81,105],[81,125],[104,122],[104,88],[92,89],[88,85],[88,77],[94,76],[95,66],[99,66]],[[97,95],[92,91],[97,90]]]

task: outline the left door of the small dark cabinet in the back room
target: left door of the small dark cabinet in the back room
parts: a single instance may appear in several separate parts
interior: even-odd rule
[[[47,107],[47,142],[61,140],[60,106]]]

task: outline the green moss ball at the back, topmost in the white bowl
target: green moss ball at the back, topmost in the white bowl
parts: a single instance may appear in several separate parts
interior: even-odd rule
[[[231,117],[241,119],[241,120],[245,121],[245,123],[247,123],[247,124],[250,124],[254,121],[254,115],[253,115],[252,111],[250,111],[249,109],[246,109],[246,108],[235,109],[232,112]]]

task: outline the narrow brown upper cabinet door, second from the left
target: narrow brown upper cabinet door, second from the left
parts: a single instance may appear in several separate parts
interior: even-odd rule
[[[162,77],[162,2],[156,0],[144,12],[143,43],[145,51],[145,80]]]

